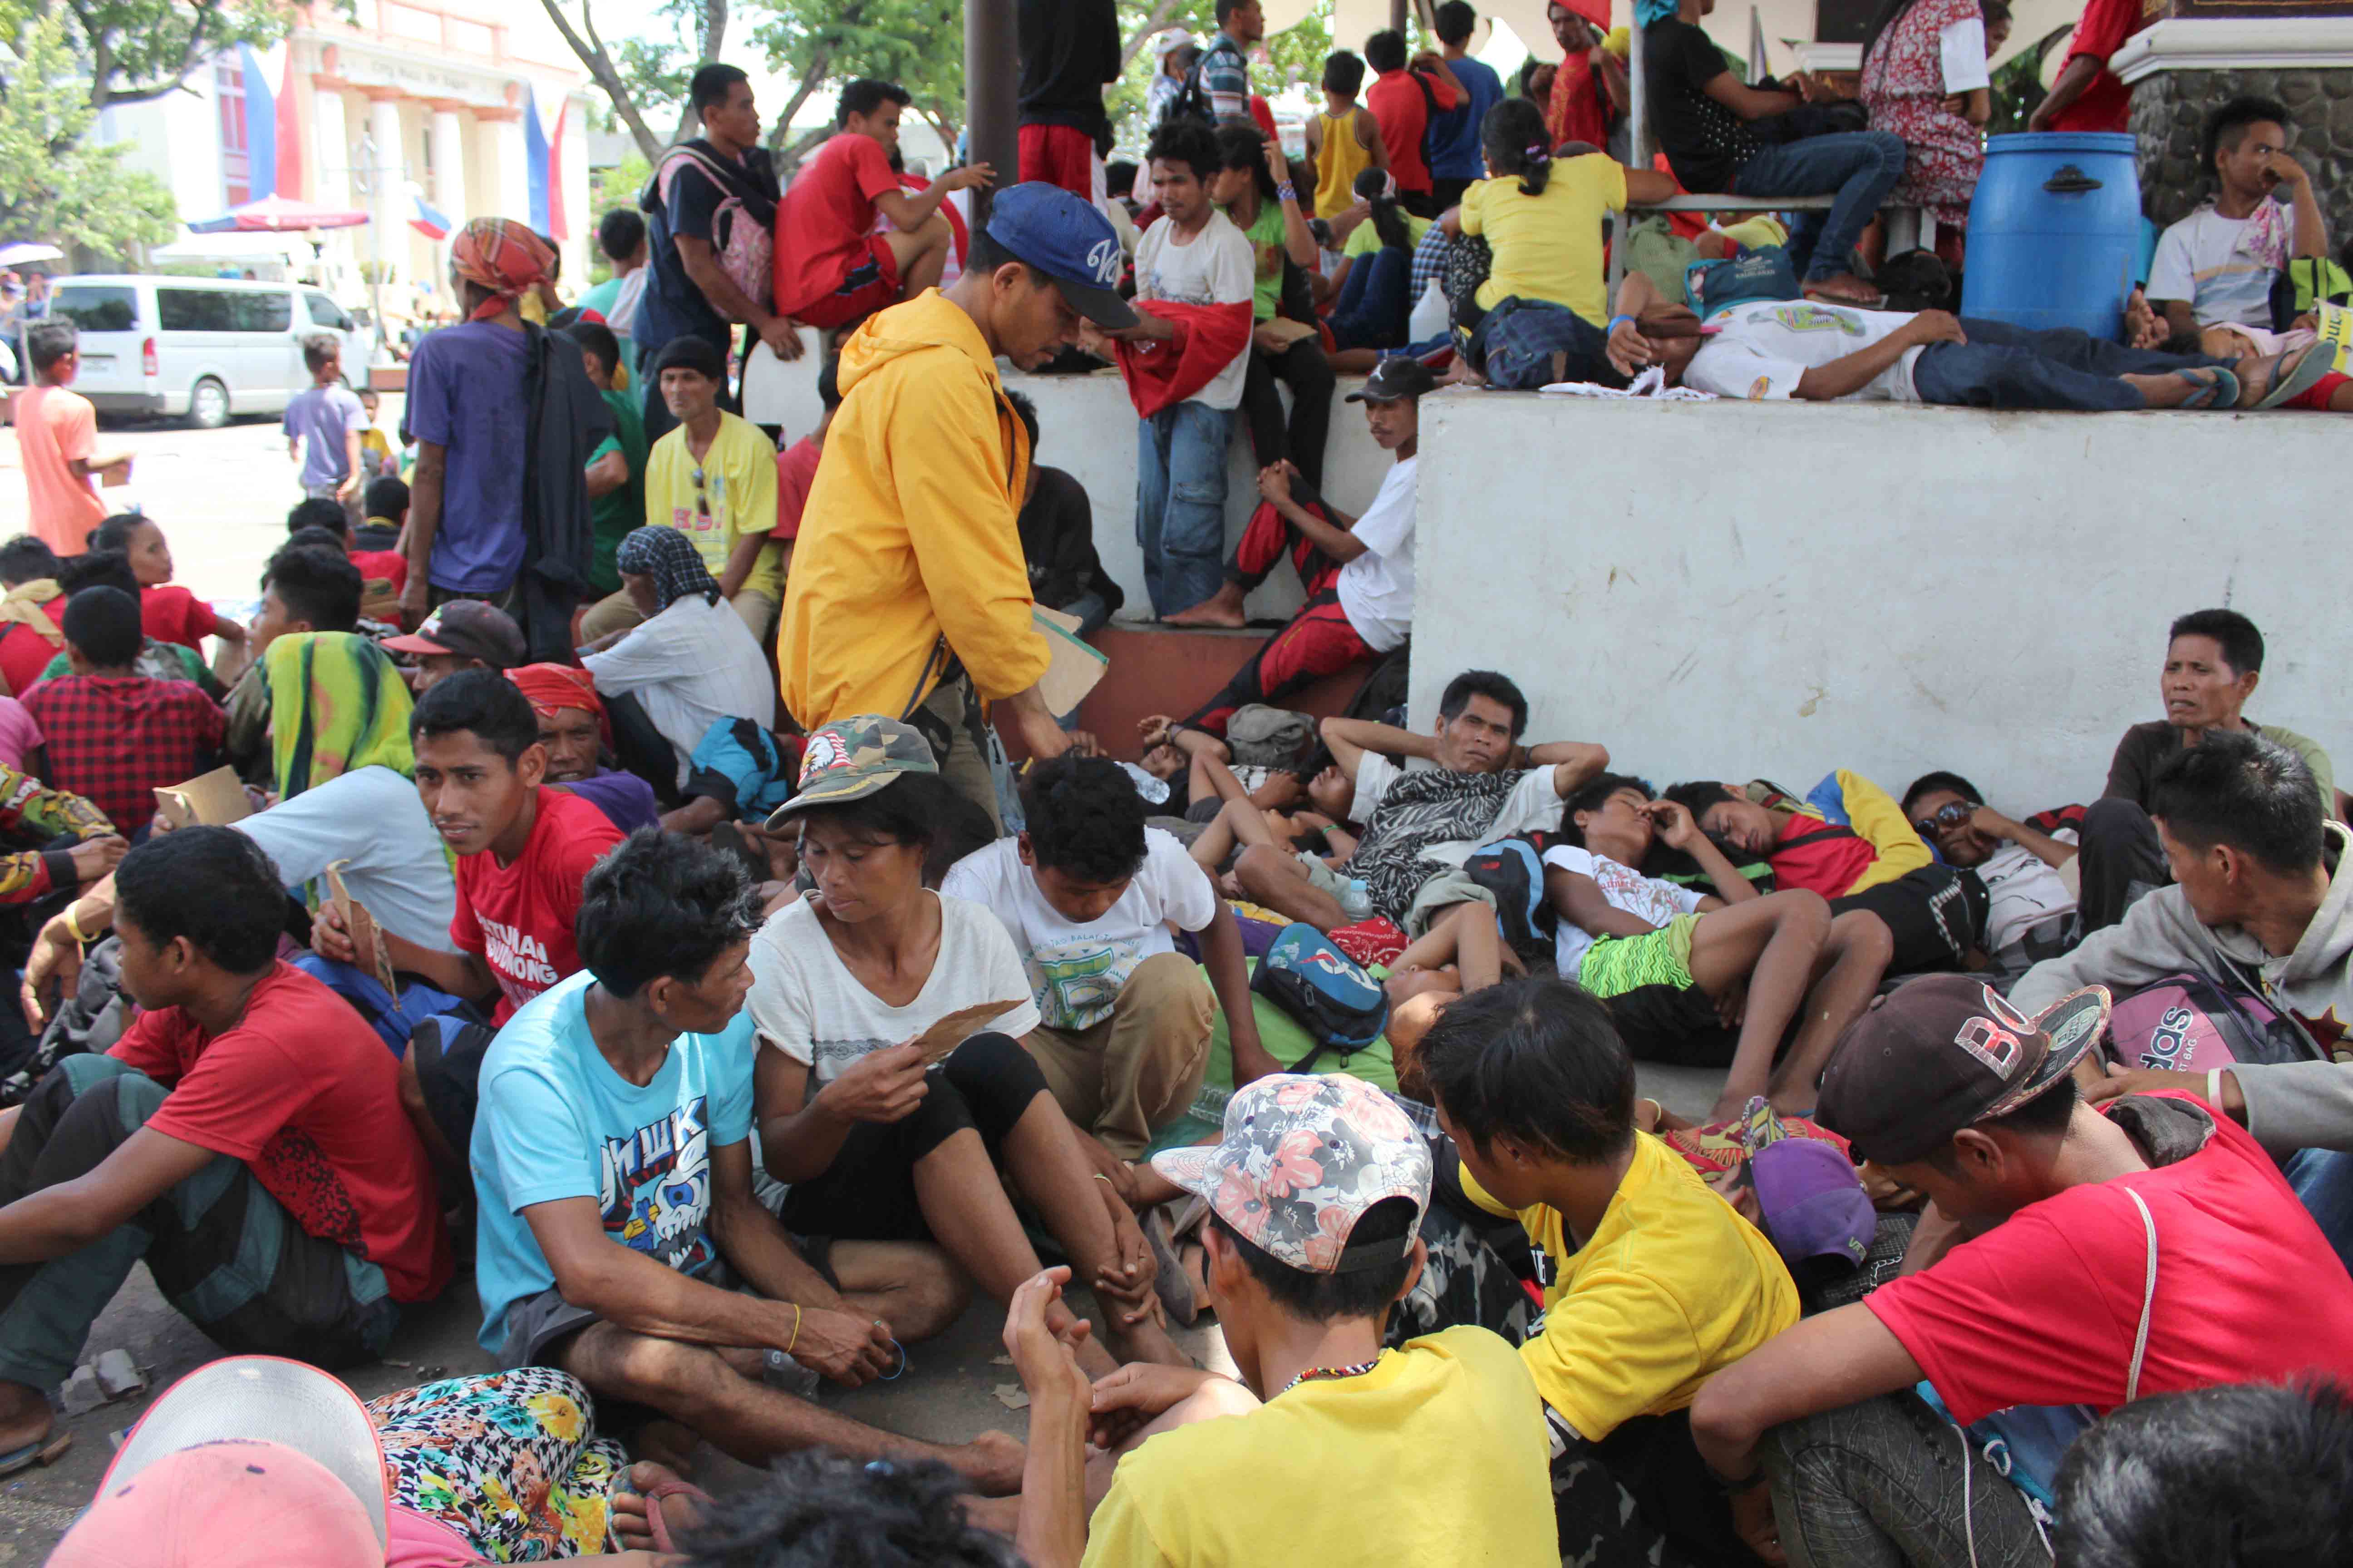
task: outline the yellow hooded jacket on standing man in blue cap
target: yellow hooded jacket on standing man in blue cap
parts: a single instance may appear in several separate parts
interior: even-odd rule
[[[1021,559],[1028,433],[979,327],[939,289],[842,343],[842,407],[784,585],[784,703],[814,729],[906,717],[962,661],[981,698],[1038,684],[1049,654]]]

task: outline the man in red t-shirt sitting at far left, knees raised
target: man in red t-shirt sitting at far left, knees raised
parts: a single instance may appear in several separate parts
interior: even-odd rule
[[[139,1260],[224,1349],[327,1368],[449,1281],[393,1058],[278,961],[268,856],[181,827],[122,858],[115,898],[139,1020],[0,1112],[0,1474],[64,1450],[49,1389]]]

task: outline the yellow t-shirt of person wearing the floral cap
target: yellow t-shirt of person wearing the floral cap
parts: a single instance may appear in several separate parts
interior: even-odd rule
[[[1555,1568],[1544,1406],[1511,1345],[1447,1328],[1360,1378],[1176,1427],[1120,1460],[1085,1568]]]

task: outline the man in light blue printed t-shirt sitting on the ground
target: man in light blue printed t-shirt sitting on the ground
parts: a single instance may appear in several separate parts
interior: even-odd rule
[[[847,1387],[887,1375],[892,1340],[936,1333],[962,1293],[925,1246],[842,1241],[812,1267],[753,1197],[758,919],[734,858],[652,827],[591,872],[586,973],[515,1013],[482,1063],[482,1349],[652,1406],[748,1465],[824,1443],[1009,1490],[1012,1439],[939,1448],[762,1387],[765,1366],[791,1371],[779,1356]]]

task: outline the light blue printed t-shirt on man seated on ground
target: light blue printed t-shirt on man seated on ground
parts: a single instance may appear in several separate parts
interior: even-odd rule
[[[711,1150],[751,1135],[751,1013],[718,1034],[680,1034],[654,1081],[638,1088],[588,1034],[588,985],[586,971],[551,985],[482,1058],[473,1276],[489,1354],[506,1345],[508,1307],[555,1286],[522,1218],[532,1204],[595,1199],[607,1239],[680,1274],[718,1260]]]

